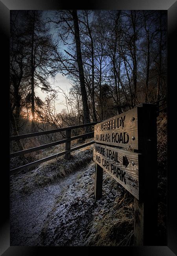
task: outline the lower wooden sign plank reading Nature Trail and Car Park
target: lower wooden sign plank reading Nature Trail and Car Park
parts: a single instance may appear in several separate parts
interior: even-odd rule
[[[139,199],[138,158],[140,154],[94,144],[94,161]]]

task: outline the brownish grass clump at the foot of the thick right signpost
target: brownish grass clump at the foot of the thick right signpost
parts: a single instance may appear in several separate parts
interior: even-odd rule
[[[133,197],[124,191],[116,197],[112,208],[90,222],[89,246],[133,245]]]

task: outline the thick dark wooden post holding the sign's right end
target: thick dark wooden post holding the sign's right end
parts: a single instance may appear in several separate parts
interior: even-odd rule
[[[134,245],[157,245],[157,120],[156,107],[138,107],[140,198],[134,199]]]

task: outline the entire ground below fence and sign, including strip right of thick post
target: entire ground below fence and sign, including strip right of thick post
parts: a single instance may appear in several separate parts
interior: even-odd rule
[[[166,117],[158,119],[157,245],[166,245]],[[94,199],[93,145],[11,176],[11,245],[133,245],[133,196],[103,173]]]

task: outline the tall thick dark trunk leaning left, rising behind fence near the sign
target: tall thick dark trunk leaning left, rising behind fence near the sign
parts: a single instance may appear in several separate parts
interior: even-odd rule
[[[79,80],[81,85],[81,96],[82,96],[82,104],[83,104],[83,117],[84,123],[90,122],[90,114],[89,114],[89,107],[87,102],[87,91],[85,88],[85,78],[84,78],[84,71],[83,71],[83,62],[81,56],[81,42],[80,42],[80,35],[79,35],[79,24],[78,24],[78,17],[77,17],[77,10],[72,11],[72,17],[74,21],[74,36],[76,41],[76,54],[77,54],[77,64],[79,69]],[[90,131],[90,127],[86,127],[86,132]]]

